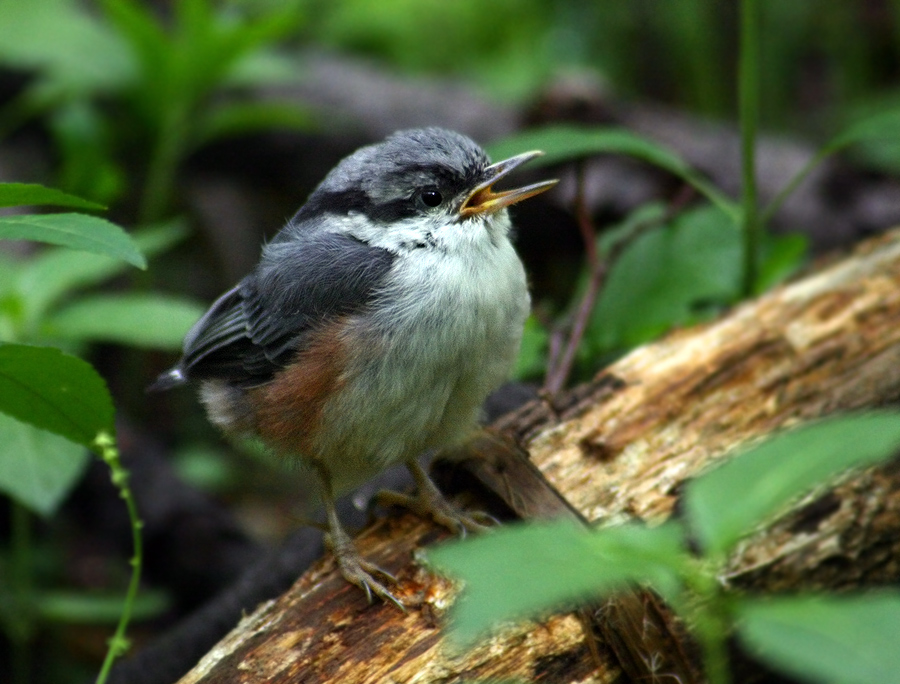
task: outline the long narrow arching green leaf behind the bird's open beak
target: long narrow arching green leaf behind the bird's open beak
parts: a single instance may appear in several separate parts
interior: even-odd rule
[[[737,203],[729,199],[675,152],[659,143],[618,128],[583,128],[548,126],[518,133],[488,146],[492,159],[500,160],[528,150],[542,150],[543,157],[531,162],[532,167],[558,164],[597,154],[624,154],[665,169],[693,185],[732,221],[740,213]]]

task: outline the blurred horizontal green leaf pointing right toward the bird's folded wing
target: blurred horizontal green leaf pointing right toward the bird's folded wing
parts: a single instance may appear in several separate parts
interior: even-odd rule
[[[52,315],[45,332],[52,337],[177,351],[205,310],[201,304],[171,296],[96,295]]]

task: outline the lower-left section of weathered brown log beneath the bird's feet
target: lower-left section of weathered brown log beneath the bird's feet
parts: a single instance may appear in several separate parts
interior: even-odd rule
[[[456,590],[410,562],[417,548],[445,536],[404,515],[379,521],[357,539],[366,557],[396,573],[407,614],[380,602],[369,606],[325,558],[287,594],[242,620],[181,684],[555,681],[563,670],[575,681],[612,682],[589,679],[594,666],[572,616],[510,629],[470,652],[445,646],[440,622]]]

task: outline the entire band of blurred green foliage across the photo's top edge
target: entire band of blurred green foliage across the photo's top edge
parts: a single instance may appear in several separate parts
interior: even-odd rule
[[[0,103],[0,137],[41,116],[57,185],[110,203],[140,189],[142,220],[172,210],[174,171],[223,135],[308,129],[314,114],[247,87],[290,83],[290,46],[326,47],[413,74],[525,98],[561,74],[596,74],[621,98],[702,115],[736,110],[734,3],[715,0],[4,0],[0,65],[35,73]],[[889,0],[761,7],[761,122],[818,137],[845,112],[891,107],[900,10]],[[852,27],[853,31],[849,31]],[[863,39],[864,37],[864,39]],[[894,93],[894,94],[892,94]],[[896,150],[862,147],[897,166]],[[131,169],[142,179],[128,180]]]

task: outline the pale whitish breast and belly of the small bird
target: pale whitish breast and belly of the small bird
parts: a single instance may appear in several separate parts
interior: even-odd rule
[[[485,398],[509,377],[530,304],[512,247],[500,256],[462,288],[427,283],[431,301],[408,306],[414,314],[388,312],[391,325],[373,320],[351,333],[348,347],[362,353],[326,404],[317,440],[338,489],[475,429]]]

